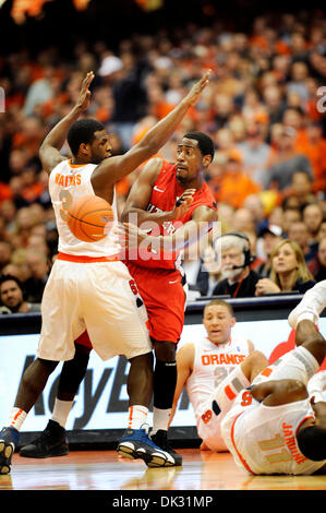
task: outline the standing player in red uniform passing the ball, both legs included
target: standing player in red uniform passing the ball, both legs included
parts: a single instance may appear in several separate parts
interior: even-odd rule
[[[165,448],[171,456],[164,466],[182,463],[167,438],[177,384],[176,348],[183,327],[185,306],[184,276],[178,265],[178,253],[190,240],[198,238],[200,225],[201,228],[204,225],[204,230],[209,230],[217,220],[216,204],[204,181],[213,156],[210,138],[201,132],[186,134],[178,146],[177,164],[153,158],[145,165],[122,214],[124,219],[135,222],[142,228],[149,227],[149,224],[153,228],[155,224],[154,244],[160,240],[155,234],[161,234],[161,240],[168,240],[174,250],[165,254],[165,259],[144,249],[136,260],[129,259],[126,262],[137,287],[140,282],[138,289],[147,309],[156,354],[152,437],[156,440],[155,444]],[[92,348],[87,333],[84,333],[76,341],[76,347],[87,346]],[[79,358],[76,351],[74,360],[64,363],[52,419],[38,439],[21,450],[22,456],[47,457],[68,453],[64,426],[87,366],[85,361],[79,363]],[[130,455],[132,449],[131,431],[119,443],[118,450],[123,455]]]

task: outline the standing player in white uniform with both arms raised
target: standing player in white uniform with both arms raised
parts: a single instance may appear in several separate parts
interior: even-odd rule
[[[116,182],[169,140],[188,109],[198,99],[208,76],[209,72],[205,73],[176,108],[129,152],[111,157],[105,127],[97,120],[79,119],[90,100],[94,73],[89,72],[75,107],[43,142],[39,157],[50,175],[59,255],[44,291],[37,358],[24,372],[9,425],[0,432],[0,474],[10,472],[20,429],[49,374],[59,361],[73,358],[74,341],[85,330],[102,360],[123,354],[131,363],[128,380],[131,457],[142,457],[148,466],[161,466],[169,460],[169,454],[159,450],[142,429],[153,394],[153,354],[146,312],[144,306],[137,307],[140,298],[134,282],[128,267],[119,261],[119,246],[113,237],[109,234],[92,243],[76,239],[67,225],[67,212],[73,199],[94,194],[112,205],[117,220]],[[60,153],[65,139],[73,155],[71,159]]]

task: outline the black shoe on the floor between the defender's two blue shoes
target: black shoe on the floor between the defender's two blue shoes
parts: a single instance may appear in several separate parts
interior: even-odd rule
[[[51,457],[64,456],[68,452],[65,429],[55,420],[49,420],[40,436],[21,449],[20,455],[23,457]]]

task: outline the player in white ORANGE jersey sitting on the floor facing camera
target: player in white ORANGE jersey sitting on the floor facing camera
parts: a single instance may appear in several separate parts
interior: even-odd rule
[[[236,318],[232,307],[214,299],[204,309],[206,336],[185,343],[177,353],[178,381],[172,416],[183,387],[194,408],[201,449],[227,451],[220,434],[220,422],[240,390],[268,361],[251,341],[232,334]],[[172,417],[171,416],[171,417]]]

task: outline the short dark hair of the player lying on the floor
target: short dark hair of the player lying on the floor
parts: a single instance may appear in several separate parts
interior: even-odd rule
[[[298,446],[300,452],[312,460],[321,462],[326,460],[326,429],[321,426],[309,426],[300,429],[297,434]]]

